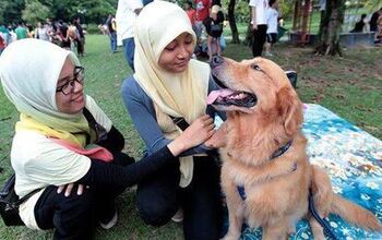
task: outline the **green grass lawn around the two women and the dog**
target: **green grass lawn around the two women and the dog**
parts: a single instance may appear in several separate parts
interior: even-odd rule
[[[285,70],[298,72],[298,93],[305,103],[320,104],[365,131],[382,139],[382,49],[346,50],[344,58],[314,57],[310,48],[278,44],[272,59]],[[91,35],[86,43],[85,91],[92,95],[126,137],[126,152],[140,157],[143,143],[134,130],[120,97],[120,86],[131,71],[119,51],[110,53],[108,38]],[[243,45],[228,45],[225,56],[241,60],[251,58]],[[11,172],[9,153],[19,115],[0,91],[0,182]],[[162,228],[144,225],[138,216],[133,190],[118,199],[119,221],[111,230],[97,229],[97,239],[182,239],[180,225]],[[1,239],[51,239],[51,231],[25,227],[7,228],[0,220]]]

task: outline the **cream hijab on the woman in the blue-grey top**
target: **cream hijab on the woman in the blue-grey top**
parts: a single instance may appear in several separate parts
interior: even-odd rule
[[[147,4],[135,21],[134,79],[152,98],[158,124],[168,139],[181,133],[168,115],[183,117],[189,123],[205,113],[210,67],[190,60],[184,72],[170,73],[158,65],[165,47],[182,33],[196,37],[187,13],[177,4],[154,1]],[[180,160],[180,187],[192,180],[192,156]]]

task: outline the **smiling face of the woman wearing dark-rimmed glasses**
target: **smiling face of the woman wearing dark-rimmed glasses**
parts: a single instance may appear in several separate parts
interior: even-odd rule
[[[82,81],[83,75],[75,74],[74,64],[67,58],[57,82],[57,89],[64,87],[63,92],[56,93],[56,104],[60,112],[74,115],[85,107]]]

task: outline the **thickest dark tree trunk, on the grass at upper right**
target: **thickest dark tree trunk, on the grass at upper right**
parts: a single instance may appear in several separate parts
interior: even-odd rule
[[[326,0],[326,9],[322,14],[323,20],[318,35],[315,47],[317,55],[336,53],[343,56],[339,46],[339,34],[344,23],[345,0]]]

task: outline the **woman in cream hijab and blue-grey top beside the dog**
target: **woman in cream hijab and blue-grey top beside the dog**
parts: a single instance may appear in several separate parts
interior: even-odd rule
[[[135,22],[134,39],[135,74],[124,81],[122,96],[151,154],[181,134],[184,121],[171,117],[193,122],[206,112],[207,93],[217,87],[210,80],[210,67],[191,59],[196,37],[178,5],[147,4]],[[182,152],[180,164],[163,168],[138,185],[138,208],[145,223],[164,225],[177,212],[180,220],[181,208],[186,239],[218,239],[219,167],[206,145]]]

